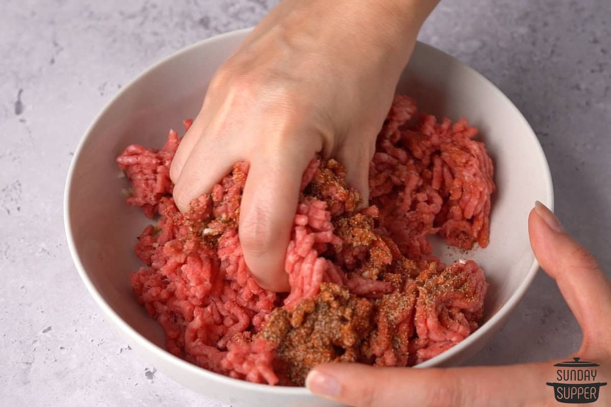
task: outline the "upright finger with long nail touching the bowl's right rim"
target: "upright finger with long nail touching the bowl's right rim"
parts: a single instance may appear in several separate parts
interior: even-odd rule
[[[611,284],[596,259],[539,202],[530,211],[529,234],[537,261],[556,280],[584,331],[582,351],[611,342]]]

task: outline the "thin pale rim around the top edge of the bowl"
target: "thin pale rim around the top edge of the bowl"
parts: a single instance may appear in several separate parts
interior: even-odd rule
[[[95,286],[93,286],[93,283],[91,279],[89,278],[89,275],[87,271],[85,270],[81,259],[79,258],[78,251],[76,250],[75,239],[74,239],[72,228],[70,225],[70,214],[71,214],[70,196],[72,193],[72,180],[74,178],[76,162],[78,162],[79,157],[81,155],[81,151],[84,148],[84,146],[86,145],[87,140],[89,140],[89,138],[91,137],[93,129],[97,127],[98,122],[101,120],[101,118],[103,118],[106,112],[108,112],[110,107],[117,101],[117,99],[121,98],[124,93],[130,92],[130,89],[137,82],[142,81],[143,78],[147,76],[147,74],[156,70],[160,65],[163,65],[164,63],[167,63],[170,60],[177,58],[178,56],[181,56],[187,52],[191,52],[193,49],[200,48],[206,44],[214,43],[217,41],[223,41],[227,38],[245,37],[245,35],[249,33],[250,31],[252,31],[252,29],[253,29],[252,27],[248,27],[248,28],[239,29],[235,31],[225,32],[224,34],[220,34],[220,35],[214,35],[213,37],[209,37],[204,40],[197,41],[196,43],[192,45],[179,49],[178,51],[170,54],[169,56],[164,57],[163,59],[158,60],[157,62],[153,63],[152,66],[148,67],[146,70],[142,71],[142,73],[138,74],[132,81],[130,81],[128,85],[123,87],[117,93],[117,95],[115,95],[106,104],[106,106],[104,106],[104,108],[93,119],[92,123],[89,125],[83,137],[79,141],[78,146],[75,149],[75,154],[70,162],[70,167],[68,168],[67,178],[65,182],[65,190],[64,190],[64,228],[65,228],[66,239],[67,239],[68,248],[70,250],[71,257],[75,263],[76,269],[78,270],[78,273],[81,276],[83,283],[85,284],[85,286],[87,287],[87,290],[89,291],[89,294],[92,295],[93,299],[97,302],[98,306],[100,306],[100,308],[104,311],[106,316],[112,322],[114,322],[115,326],[117,326],[122,331],[122,333],[125,334],[127,337],[130,337],[131,340],[133,340],[134,342],[137,342],[140,348],[155,354],[158,358],[163,359],[163,361],[166,364],[174,365],[174,367],[176,367],[177,369],[183,370],[186,373],[200,376],[200,378],[202,379],[217,382],[219,384],[224,384],[226,386],[240,387],[241,389],[245,391],[257,391],[257,392],[273,393],[273,394],[279,394],[279,395],[291,395],[291,396],[310,395],[311,393],[306,387],[269,386],[268,384],[251,383],[251,382],[244,381],[244,380],[230,378],[229,376],[224,376],[224,375],[221,375],[220,373],[215,373],[215,372],[212,372],[211,370],[203,369],[202,367],[191,364],[183,359],[178,358],[177,356],[172,355],[167,350],[159,347],[158,345],[153,344],[153,342],[151,342],[150,340],[142,336],[142,334],[134,330],[134,328],[132,328],[131,325],[125,322],[125,320],[123,320],[119,316],[119,314],[117,314],[117,312],[115,312],[114,309],[111,308],[111,306],[106,302],[106,300],[104,300],[104,298],[102,297],[100,292],[98,292],[98,290],[95,288]],[[433,52],[434,54],[437,54],[437,56],[439,57],[446,58],[446,59],[447,58],[453,59],[455,63],[462,65],[461,68],[463,69],[466,68],[467,71],[470,71],[471,73],[475,74],[476,76],[479,76],[483,80],[483,84],[485,86],[491,88],[492,92],[497,93],[497,96],[500,96],[500,98],[504,99],[505,102],[510,104],[511,106],[510,109],[514,110],[514,113],[516,113],[516,117],[518,118],[518,120],[521,120],[523,122],[522,124],[525,124],[525,128],[529,130],[529,136],[535,142],[536,153],[538,154],[538,156],[540,156],[540,159],[543,159],[543,164],[544,164],[543,176],[544,176],[544,181],[546,182],[546,186],[547,186],[547,191],[546,191],[547,196],[542,196],[541,198],[546,200],[547,206],[549,207],[549,209],[553,211],[554,210],[554,186],[552,184],[552,176],[551,176],[551,171],[549,169],[549,164],[547,162],[547,157],[545,156],[543,147],[539,143],[539,140],[537,139],[535,132],[531,128],[530,124],[528,123],[524,115],[522,115],[522,113],[519,111],[518,107],[516,107],[513,104],[513,102],[511,102],[511,99],[509,99],[507,95],[501,92],[501,90],[497,88],[496,85],[492,84],[492,82],[489,81],[488,78],[483,76],[483,74],[479,73],[474,68],[469,67],[469,65],[467,65],[466,63],[463,63],[460,60],[456,59],[455,57],[451,56],[450,54],[447,54],[447,52],[441,51],[440,49],[434,48],[433,46],[423,43],[421,41],[418,41],[417,46],[426,48],[429,52]],[[500,308],[497,309],[496,312],[494,312],[492,317],[490,317],[490,319],[486,321],[484,325],[482,325],[474,333],[470,334],[466,339],[461,341],[458,345],[455,345],[454,347],[448,349],[447,351],[444,351],[443,353],[435,356],[432,359],[429,359],[428,361],[425,361],[419,365],[416,365],[415,368],[432,367],[432,366],[437,366],[438,364],[442,364],[443,362],[447,361],[447,359],[451,358],[456,353],[459,353],[459,351],[468,347],[470,344],[477,341],[481,336],[486,334],[486,331],[488,330],[483,329],[484,326],[486,325],[493,326],[493,325],[496,325],[496,323],[502,322],[502,319],[507,317],[510,314],[510,312],[516,307],[516,305],[519,303],[522,297],[524,297],[525,292],[527,291],[528,287],[530,286],[533,279],[535,278],[536,273],[538,272],[538,269],[539,269],[538,262],[536,261],[536,259],[534,259],[532,264],[530,265],[529,272],[525,276],[522,283],[519,284],[518,289],[516,289],[515,292],[511,295],[511,297],[507,301],[505,301],[505,303],[503,303],[500,306]]]

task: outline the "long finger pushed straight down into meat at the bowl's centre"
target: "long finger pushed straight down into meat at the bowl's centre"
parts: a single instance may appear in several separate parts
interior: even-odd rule
[[[261,287],[276,292],[289,289],[284,271],[287,245],[301,177],[315,154],[313,147],[300,147],[260,151],[251,160],[240,207],[240,243],[246,265]]]

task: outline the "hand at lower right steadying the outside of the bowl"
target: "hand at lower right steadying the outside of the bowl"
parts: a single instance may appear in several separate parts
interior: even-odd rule
[[[530,212],[529,233],[539,264],[556,280],[582,328],[575,355],[601,365],[596,381],[611,382],[611,283],[540,203]],[[558,361],[450,369],[323,364],[309,373],[306,386],[354,406],[560,406],[546,386],[557,381],[553,365]],[[595,405],[611,405],[611,387],[600,390]]]

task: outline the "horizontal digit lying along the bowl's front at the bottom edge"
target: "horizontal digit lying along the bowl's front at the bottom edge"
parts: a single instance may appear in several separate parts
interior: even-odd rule
[[[543,405],[553,397],[545,385],[553,378],[552,365],[409,369],[328,363],[315,367],[305,385],[314,394],[357,407]]]

